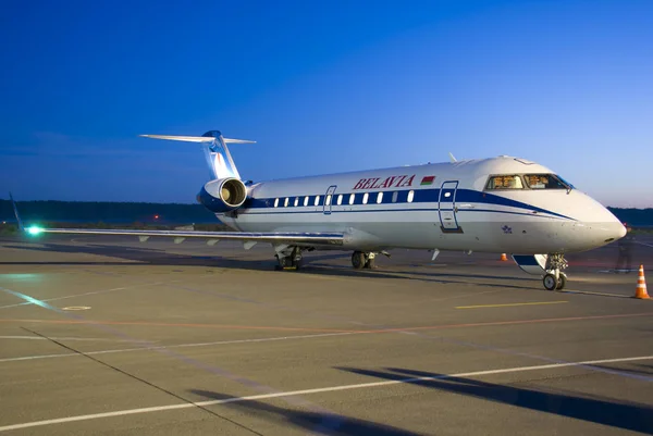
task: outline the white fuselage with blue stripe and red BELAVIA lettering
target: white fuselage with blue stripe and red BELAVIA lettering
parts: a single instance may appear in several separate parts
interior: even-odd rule
[[[502,174],[553,172],[501,157],[271,180],[250,186],[235,214],[217,216],[242,232],[342,232],[342,249],[368,251],[564,253],[625,235],[607,209],[577,189],[486,189],[489,177]]]

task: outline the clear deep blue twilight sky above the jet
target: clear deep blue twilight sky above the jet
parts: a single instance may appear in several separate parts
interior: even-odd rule
[[[0,38],[21,200],[193,202],[197,145],[137,135],[220,129],[255,180],[510,154],[653,207],[648,0],[9,0]]]

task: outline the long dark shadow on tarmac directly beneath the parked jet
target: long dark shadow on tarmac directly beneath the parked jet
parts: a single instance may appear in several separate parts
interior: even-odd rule
[[[113,265],[113,266],[137,266],[143,264],[149,265],[170,265],[170,266],[206,266],[206,267],[224,267],[238,270],[254,271],[273,271],[276,265],[274,259],[238,259],[237,257],[220,257],[220,256],[201,256],[201,254],[180,254],[171,253],[164,249],[156,249],[149,247],[122,247],[100,244],[86,244],[83,246],[73,246],[67,244],[52,244],[39,241],[38,245],[3,245],[5,248],[19,250],[35,250],[45,252],[62,252],[62,253],[85,253],[101,257],[123,259],[133,262],[106,261],[106,260],[88,260],[88,261],[5,261],[0,262],[0,265]],[[330,253],[320,256],[306,256],[305,262],[299,270],[303,274],[332,275],[344,277],[377,277],[377,278],[403,278],[417,279],[438,284],[473,284],[485,287],[496,288],[516,288],[516,289],[537,289],[539,282],[532,278],[515,277],[510,275],[488,275],[488,274],[459,274],[459,273],[442,273],[442,272],[420,272],[420,271],[383,271],[377,270],[353,270],[349,266],[340,266],[324,261],[334,259],[348,259],[348,253]],[[518,272],[516,271],[516,274]],[[470,279],[502,279],[522,282],[523,286],[512,284],[492,284],[478,283]]]

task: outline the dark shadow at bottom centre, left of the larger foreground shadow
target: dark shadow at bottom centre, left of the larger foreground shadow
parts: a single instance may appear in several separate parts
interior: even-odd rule
[[[257,418],[275,422],[283,426],[295,426],[318,435],[341,436],[417,436],[417,433],[402,428],[378,424],[370,421],[347,418],[340,414],[310,410],[285,409],[261,401],[238,401],[229,395],[209,390],[190,390],[193,394],[209,400],[225,400],[222,406],[236,409],[239,412],[249,412]],[[231,421],[231,420],[230,420]],[[242,424],[237,424],[242,425]],[[244,426],[244,425],[242,425]]]

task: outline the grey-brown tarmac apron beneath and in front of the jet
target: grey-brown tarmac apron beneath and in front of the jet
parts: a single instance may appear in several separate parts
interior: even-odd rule
[[[653,300],[615,245],[569,256],[565,291],[500,254],[272,254],[1,238],[0,433],[653,434]]]

